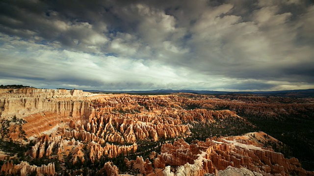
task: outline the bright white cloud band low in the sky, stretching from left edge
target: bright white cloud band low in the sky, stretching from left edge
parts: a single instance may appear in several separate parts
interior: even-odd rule
[[[6,36],[6,38],[9,37]],[[118,81],[140,83],[139,86],[150,85],[147,88],[159,88],[160,85],[168,88],[170,85],[187,88],[186,86],[191,82],[199,81],[185,78],[184,75],[186,76],[188,72],[186,70],[160,65],[158,62],[54,50],[50,46],[42,44],[32,44],[30,47],[24,41],[14,38],[10,38],[6,42],[8,46],[10,43],[15,43],[20,50],[27,50],[11,55],[9,53],[15,48],[7,47],[8,50],[4,53],[2,61],[9,62],[1,66],[1,70],[6,73],[6,78],[42,80],[47,82],[46,87],[51,83],[62,83],[69,87],[70,85],[80,85],[81,88],[119,89],[115,87]],[[21,75],[23,75],[22,78]],[[106,87],[110,84],[111,87]],[[44,86],[43,84],[39,85]],[[140,89],[141,87],[134,88]]]

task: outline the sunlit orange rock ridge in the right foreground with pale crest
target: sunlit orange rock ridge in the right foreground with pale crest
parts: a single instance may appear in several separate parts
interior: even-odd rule
[[[163,173],[166,176],[204,176],[206,173],[223,176],[237,171],[244,174],[248,172],[247,170],[252,171],[248,172],[251,175],[254,173],[282,176],[289,176],[289,173],[299,176],[314,175],[314,172],[302,169],[296,158],[287,159],[283,154],[263,147],[263,143],[269,140],[278,142],[264,132],[208,138],[205,142],[194,141],[190,145],[183,139],[178,139],[173,144],[162,146],[161,154],[157,156],[154,164],[156,167],[179,166],[175,173],[170,171],[170,166],[165,167]],[[230,166],[247,169],[231,169]],[[226,171],[218,172],[219,170]]]

